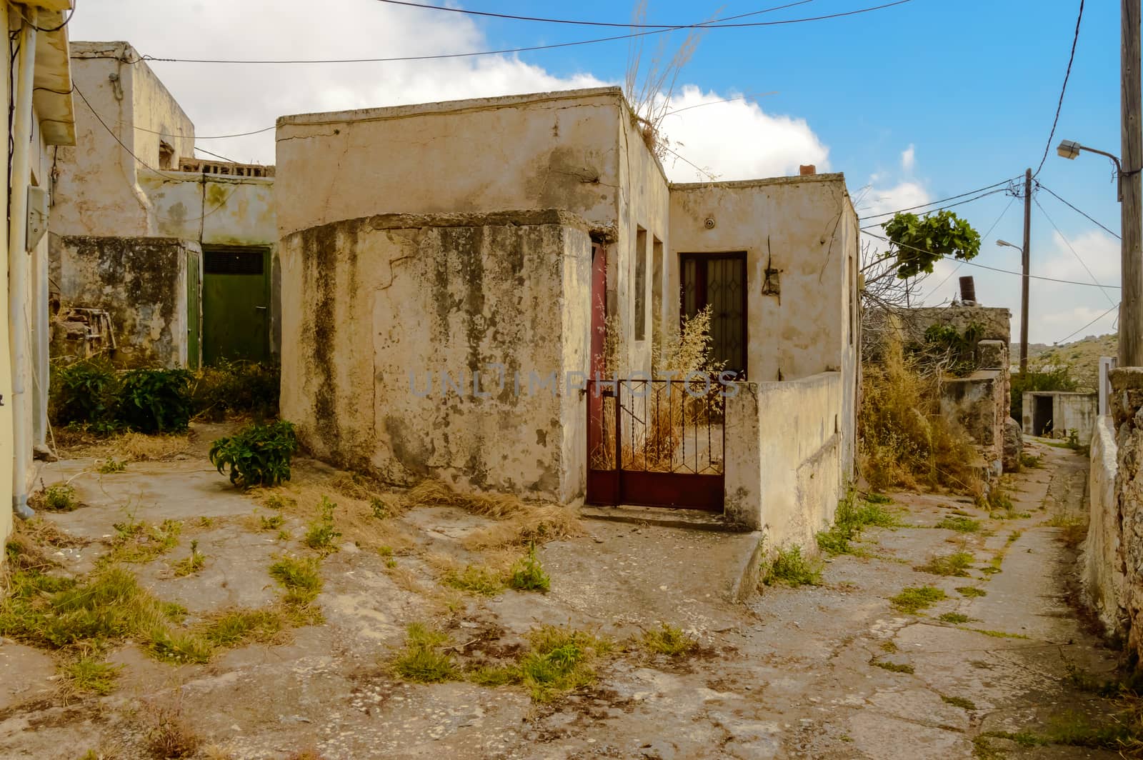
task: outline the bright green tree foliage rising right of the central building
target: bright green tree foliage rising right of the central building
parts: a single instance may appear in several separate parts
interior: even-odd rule
[[[981,253],[981,235],[968,222],[949,210],[926,216],[897,214],[881,225],[896,257],[897,277],[933,273],[941,258],[968,261]]]

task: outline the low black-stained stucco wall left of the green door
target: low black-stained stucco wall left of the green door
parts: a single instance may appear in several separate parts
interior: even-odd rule
[[[186,258],[198,243],[93,235],[53,235],[51,241],[61,298],[111,313],[117,361],[186,366]]]

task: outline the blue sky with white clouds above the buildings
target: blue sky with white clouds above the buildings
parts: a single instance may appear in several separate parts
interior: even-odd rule
[[[882,0],[813,0],[758,16],[776,21],[854,10]],[[466,0],[458,7],[506,14],[625,22],[626,3]],[[728,0],[704,7],[649,0],[646,23],[685,23],[749,13],[780,0]],[[136,8],[137,6],[137,8]],[[761,29],[713,30],[682,71],[692,104],[766,93],[757,105],[693,109],[669,119],[677,151],[732,178],[796,170],[799,162],[846,174],[864,210],[888,210],[1014,177],[1040,161],[1068,63],[1078,0],[912,0],[846,18]],[[72,39],[127,39],[155,56],[325,57],[417,55],[553,43],[623,30],[477,19],[394,7],[376,0],[329,0],[321,24],[295,0],[186,0],[160,23],[150,2],[80,3]],[[330,24],[330,21],[338,23]],[[250,30],[258,32],[251,38]],[[645,43],[645,58],[657,49]],[[670,35],[668,51],[682,39]],[[198,133],[258,128],[290,112],[361,107],[465,95],[622,82],[629,43],[525,53],[440,64],[250,67],[155,63],[153,67],[195,121]],[[256,69],[256,71],[255,71]],[[1089,1],[1060,126],[1039,179],[1116,232],[1119,207],[1111,165],[1085,154],[1055,154],[1061,138],[1119,152],[1118,3]],[[697,88],[697,89],[694,89]],[[672,126],[673,125],[673,126]],[[272,160],[272,138],[202,143],[238,160]],[[825,151],[828,150],[828,157]],[[741,154],[741,155],[740,155]],[[669,167],[679,173],[684,167]],[[687,178],[680,176],[679,178]],[[866,190],[863,191],[863,189]],[[1012,199],[992,195],[958,207],[983,234]],[[1118,285],[1118,240],[1047,193],[1038,200],[1103,283]],[[1033,206],[1032,272],[1090,277]],[[1020,254],[994,240],[1020,242],[1022,209],[1012,203],[984,241],[981,263],[1018,270]],[[932,289],[952,266],[940,265]],[[1020,279],[965,266],[989,305],[1018,315]],[[929,296],[948,299],[956,278]],[[1110,301],[1109,301],[1110,298]],[[1105,312],[1118,290],[1032,282],[1031,338],[1061,339]],[[1114,312],[1085,334],[1108,333]],[[1018,323],[1014,319],[1013,334]]]

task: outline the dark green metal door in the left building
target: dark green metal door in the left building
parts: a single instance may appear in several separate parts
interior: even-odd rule
[[[202,361],[265,361],[270,353],[270,247],[202,246]]]

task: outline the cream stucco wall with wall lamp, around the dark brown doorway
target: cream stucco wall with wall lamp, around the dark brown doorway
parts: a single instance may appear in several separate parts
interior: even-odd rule
[[[678,319],[680,254],[746,254],[752,381],[839,371],[852,473],[857,414],[857,217],[839,174],[673,185],[664,317]],[[706,221],[711,219],[713,226]],[[769,277],[767,272],[769,271]]]

